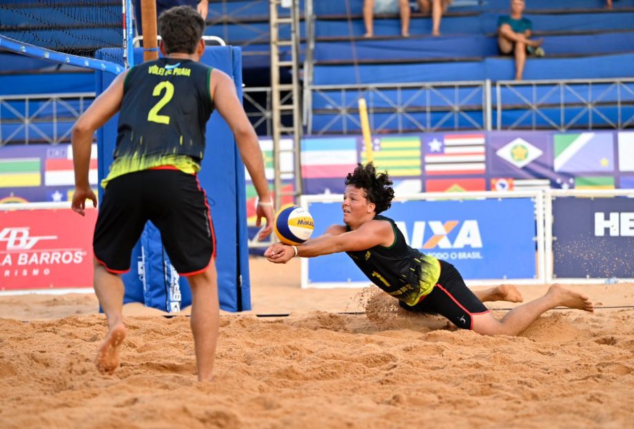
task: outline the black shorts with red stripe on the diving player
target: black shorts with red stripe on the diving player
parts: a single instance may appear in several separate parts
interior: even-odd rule
[[[464,284],[462,275],[456,267],[442,260],[440,261],[440,278],[429,295],[422,297],[415,306],[409,306],[402,301],[398,303],[409,311],[443,315],[458,328],[463,329],[473,328],[471,316],[489,312],[489,309]]]

